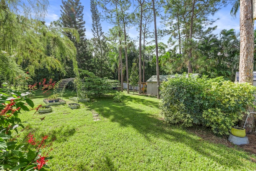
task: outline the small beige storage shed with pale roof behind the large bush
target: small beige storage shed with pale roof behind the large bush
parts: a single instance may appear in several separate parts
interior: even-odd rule
[[[167,81],[168,78],[175,78],[176,76],[182,76],[182,74],[172,74],[172,75],[160,75],[160,85],[163,81]],[[192,74],[192,76],[198,76],[198,73]],[[151,76],[147,80],[147,94],[148,95],[157,95],[157,79],[156,75]]]

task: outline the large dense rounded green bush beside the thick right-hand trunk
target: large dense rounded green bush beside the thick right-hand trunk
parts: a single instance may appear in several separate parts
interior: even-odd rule
[[[253,106],[255,91],[248,83],[236,84],[222,77],[177,76],[162,83],[160,108],[170,124],[204,125],[216,134],[228,135],[246,108]]]

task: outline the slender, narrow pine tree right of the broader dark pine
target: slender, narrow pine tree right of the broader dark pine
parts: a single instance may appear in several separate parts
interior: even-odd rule
[[[94,46],[94,66],[95,74],[99,77],[109,77],[110,76],[110,66],[108,64],[108,47],[106,44],[106,37],[104,32],[102,32],[102,27],[100,24],[100,14],[97,8],[95,0],[91,0],[91,12],[92,12],[92,33],[94,38],[92,38]]]

